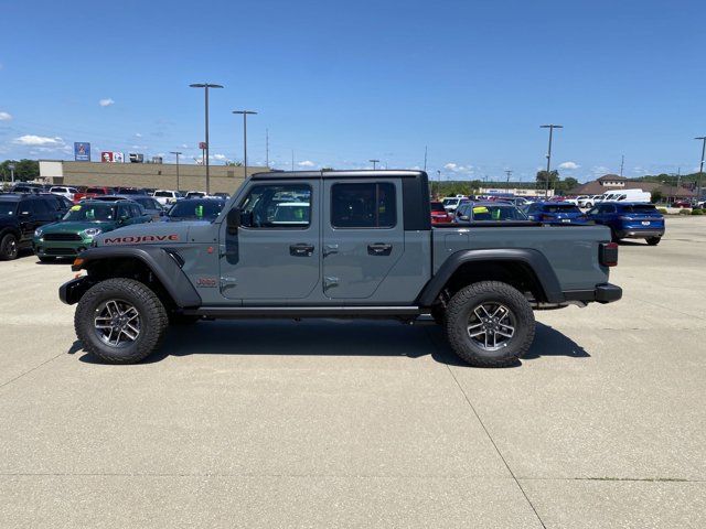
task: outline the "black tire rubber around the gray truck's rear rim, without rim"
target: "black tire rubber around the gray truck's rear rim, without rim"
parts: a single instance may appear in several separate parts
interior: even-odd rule
[[[471,312],[483,303],[500,303],[515,319],[515,333],[499,350],[486,350],[469,335]],[[453,352],[475,367],[506,367],[517,363],[534,339],[532,306],[517,289],[500,281],[481,281],[459,290],[446,307],[446,333]]]

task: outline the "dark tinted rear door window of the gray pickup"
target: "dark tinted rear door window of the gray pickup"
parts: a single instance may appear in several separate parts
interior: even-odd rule
[[[334,228],[393,228],[396,224],[395,184],[333,184],[331,187]]]

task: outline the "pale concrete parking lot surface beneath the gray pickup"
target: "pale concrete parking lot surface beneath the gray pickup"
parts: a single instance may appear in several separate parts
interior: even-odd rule
[[[0,527],[706,527],[706,222],[620,249],[522,365],[436,326],[203,322],[106,366],[0,262]]]

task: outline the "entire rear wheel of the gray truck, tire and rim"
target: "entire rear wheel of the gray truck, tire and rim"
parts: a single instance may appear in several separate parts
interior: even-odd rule
[[[532,306],[517,289],[481,281],[458,291],[446,310],[453,352],[477,367],[513,365],[534,339]]]

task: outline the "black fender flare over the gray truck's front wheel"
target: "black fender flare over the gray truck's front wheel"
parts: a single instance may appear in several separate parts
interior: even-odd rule
[[[72,267],[74,271],[89,270],[96,261],[108,261],[117,258],[138,259],[159,279],[174,303],[180,309],[201,306],[202,300],[196,289],[181,269],[176,258],[162,247],[98,247],[83,251],[78,259],[83,261]]]

